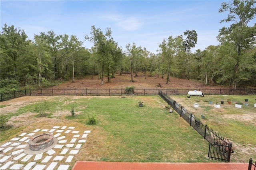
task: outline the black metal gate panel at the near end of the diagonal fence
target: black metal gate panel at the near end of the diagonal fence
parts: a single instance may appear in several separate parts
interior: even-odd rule
[[[208,157],[214,160],[229,162],[231,151],[232,144],[221,145],[210,143]]]

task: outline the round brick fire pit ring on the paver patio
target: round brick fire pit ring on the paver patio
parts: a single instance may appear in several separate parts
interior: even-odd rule
[[[43,133],[36,136],[32,136],[28,142],[30,150],[43,150],[53,144],[53,134]]]

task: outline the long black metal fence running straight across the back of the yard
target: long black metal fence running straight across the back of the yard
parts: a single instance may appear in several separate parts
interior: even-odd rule
[[[256,93],[256,89],[134,89],[134,95],[158,95],[163,91],[166,95],[186,95],[188,91],[202,91],[204,95],[250,95]],[[25,95],[126,95],[125,89],[24,89],[10,93],[0,93],[0,101],[6,101]]]

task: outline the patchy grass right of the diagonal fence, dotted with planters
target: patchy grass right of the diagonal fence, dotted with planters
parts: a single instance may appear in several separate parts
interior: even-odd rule
[[[196,117],[201,118],[204,114],[208,119],[203,120],[209,127],[219,132],[225,138],[232,141],[236,147],[234,154],[231,154],[232,162],[248,162],[249,158],[256,158],[256,96],[223,96],[208,95],[205,97],[192,96],[186,100],[185,96],[170,96],[176,102],[180,103]],[[208,103],[213,99],[213,104]],[[227,99],[232,101],[228,104]],[[236,102],[244,103],[248,99],[249,105],[242,105],[242,108],[236,108]],[[215,108],[215,101],[224,101],[220,108]],[[193,104],[198,103],[199,108],[194,108]]]

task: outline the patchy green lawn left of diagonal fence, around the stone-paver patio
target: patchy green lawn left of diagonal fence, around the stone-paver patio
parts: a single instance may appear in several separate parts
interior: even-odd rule
[[[144,107],[138,107],[136,103],[140,98],[146,101]],[[214,162],[207,157],[208,142],[177,113],[170,114],[159,96],[48,97],[44,102],[48,116],[44,118],[39,117],[40,103],[21,105],[8,113],[19,117],[21,122],[26,119],[28,125],[23,122],[18,127],[1,130],[1,144],[22,130],[69,125],[92,130],[74,160]],[[75,117],[70,113],[72,107],[75,108]],[[88,115],[93,113],[98,123],[87,125]]]

